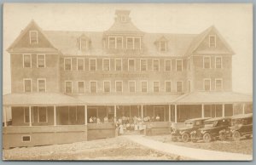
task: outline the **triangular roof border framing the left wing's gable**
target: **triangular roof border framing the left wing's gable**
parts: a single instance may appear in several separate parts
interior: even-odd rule
[[[37,51],[37,50],[38,50],[38,51],[43,51],[43,52],[44,52],[44,50],[45,50],[46,52],[57,52],[57,48],[55,48],[54,45],[53,45],[52,43],[50,43],[49,40],[48,40],[48,42],[49,42],[49,47],[47,47],[47,48],[16,48],[16,47],[15,47],[15,45],[16,45],[18,42],[20,42],[20,39],[26,35],[26,32],[27,32],[32,26],[35,26],[35,27],[37,28],[37,30],[38,30],[39,32],[41,32],[41,34],[43,35],[43,37],[45,37],[44,31],[38,26],[38,24],[37,24],[34,20],[31,20],[31,22],[26,26],[26,28],[25,28],[23,31],[21,31],[19,37],[17,37],[17,38],[15,39],[15,42],[12,43],[12,44],[9,46],[9,48],[7,49],[7,51],[9,51],[9,52],[26,52],[26,51],[27,51],[27,52],[30,52],[30,51]],[[45,38],[47,38],[47,37],[45,37]]]

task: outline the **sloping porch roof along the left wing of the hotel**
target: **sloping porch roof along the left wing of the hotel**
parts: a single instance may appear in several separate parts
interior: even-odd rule
[[[3,95],[3,105],[79,105],[71,96],[60,93],[19,93]]]

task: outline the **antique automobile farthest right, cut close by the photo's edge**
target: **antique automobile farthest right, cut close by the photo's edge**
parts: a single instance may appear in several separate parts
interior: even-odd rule
[[[221,139],[234,139],[239,141],[241,137],[250,138],[253,135],[253,113],[239,114],[231,117],[229,130],[220,131]]]

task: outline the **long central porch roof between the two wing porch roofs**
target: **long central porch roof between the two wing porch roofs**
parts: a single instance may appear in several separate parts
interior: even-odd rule
[[[141,94],[141,95],[81,95],[75,96],[86,105],[164,105],[171,104],[181,94]]]

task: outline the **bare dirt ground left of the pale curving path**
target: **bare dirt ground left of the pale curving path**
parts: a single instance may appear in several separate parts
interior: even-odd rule
[[[189,160],[137,145],[122,136],[73,144],[3,150],[3,160]]]

